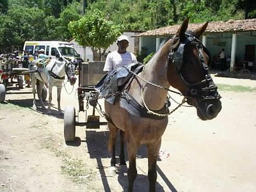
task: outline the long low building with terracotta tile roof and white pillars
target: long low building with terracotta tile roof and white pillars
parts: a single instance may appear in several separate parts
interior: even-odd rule
[[[188,30],[193,31],[202,25],[191,23]],[[140,38],[140,51],[146,49],[147,54],[156,52],[167,37],[175,35],[179,27],[180,24],[177,24],[136,35]],[[248,68],[256,70],[256,19],[209,22],[201,40],[211,52],[212,67],[220,65],[218,56],[225,49],[227,67],[241,66],[245,62]]]

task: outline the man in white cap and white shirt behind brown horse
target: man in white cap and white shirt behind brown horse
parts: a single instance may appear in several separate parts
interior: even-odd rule
[[[103,70],[109,72],[115,70],[118,67],[124,67],[131,63],[138,63],[136,56],[132,52],[126,51],[129,46],[128,36],[121,35],[117,39],[118,49],[113,52],[109,52]]]

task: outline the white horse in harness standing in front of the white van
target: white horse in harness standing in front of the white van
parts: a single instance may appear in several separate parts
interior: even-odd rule
[[[38,65],[40,63],[40,65]],[[42,100],[42,89],[44,84],[49,84],[49,104],[47,113],[51,113],[51,102],[52,102],[52,87],[57,87],[57,101],[58,101],[58,111],[61,112],[60,107],[60,94],[61,88],[63,86],[63,81],[65,80],[65,75],[68,77],[71,85],[76,83],[75,77],[75,65],[65,58],[52,59],[47,65],[45,65],[45,59],[32,61],[29,69],[35,72],[30,74],[31,85],[33,88],[33,107],[35,108],[35,86],[37,84],[38,97],[42,109],[45,109],[44,102]],[[37,81],[38,80],[38,81]],[[37,83],[36,83],[37,82]]]

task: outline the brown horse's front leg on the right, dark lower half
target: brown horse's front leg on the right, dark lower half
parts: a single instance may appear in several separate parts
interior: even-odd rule
[[[149,191],[156,191],[156,162],[161,147],[161,138],[154,144],[148,145],[148,181]]]

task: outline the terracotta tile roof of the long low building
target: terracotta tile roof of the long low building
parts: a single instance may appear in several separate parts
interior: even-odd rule
[[[204,23],[195,24],[190,23],[188,29],[193,31]],[[174,35],[179,29],[180,24],[174,26],[167,26],[164,28],[153,29],[145,31],[136,36],[166,36]],[[209,22],[205,32],[207,33],[222,33],[222,32],[233,32],[233,31],[256,31],[256,19],[245,19],[245,20],[227,20],[227,21],[214,21]]]

